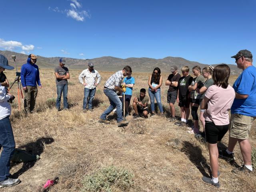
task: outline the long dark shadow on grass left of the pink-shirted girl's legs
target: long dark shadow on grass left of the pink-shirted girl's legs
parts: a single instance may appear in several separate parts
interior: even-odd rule
[[[182,143],[182,152],[186,154],[189,160],[198,168],[203,176],[210,177],[208,173],[211,174],[211,168],[206,163],[206,158],[202,155],[202,150],[199,146],[194,146],[188,141]],[[208,170],[208,173],[206,172]]]

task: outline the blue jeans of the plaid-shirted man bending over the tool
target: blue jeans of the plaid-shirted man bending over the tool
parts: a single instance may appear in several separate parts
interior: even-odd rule
[[[101,114],[100,118],[102,120],[105,120],[108,114],[110,114],[112,110],[116,108],[117,122],[122,121],[122,102],[120,101],[120,98],[114,90],[104,89],[104,94],[108,97],[108,100],[110,101],[110,106],[108,106],[108,108]]]

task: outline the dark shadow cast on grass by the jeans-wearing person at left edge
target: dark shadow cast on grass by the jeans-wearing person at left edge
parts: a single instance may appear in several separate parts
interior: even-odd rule
[[[46,144],[51,144],[54,142],[54,139],[51,137],[42,137],[36,140],[35,142],[30,142],[25,145],[19,146],[19,148],[26,150],[29,154],[39,155],[44,151],[44,146]],[[33,162],[24,162],[22,168],[14,173],[13,178],[18,178],[21,174],[26,172],[28,169],[32,168],[36,164],[36,161]]]

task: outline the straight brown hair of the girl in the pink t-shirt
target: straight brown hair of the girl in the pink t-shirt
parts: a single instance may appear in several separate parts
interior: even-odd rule
[[[230,68],[226,64],[217,65],[212,74],[213,84],[226,89],[228,87],[228,78],[230,76]]]

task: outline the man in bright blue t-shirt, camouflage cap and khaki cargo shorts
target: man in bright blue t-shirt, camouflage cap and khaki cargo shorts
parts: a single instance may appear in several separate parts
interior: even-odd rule
[[[236,59],[237,67],[243,72],[234,82],[236,98],[231,107],[229,126],[229,142],[226,151],[220,151],[220,158],[234,160],[233,150],[238,142],[244,164],[232,170],[233,173],[252,172],[252,149],[249,134],[252,122],[256,118],[256,68],[252,65],[252,53],[240,50],[232,58]]]

